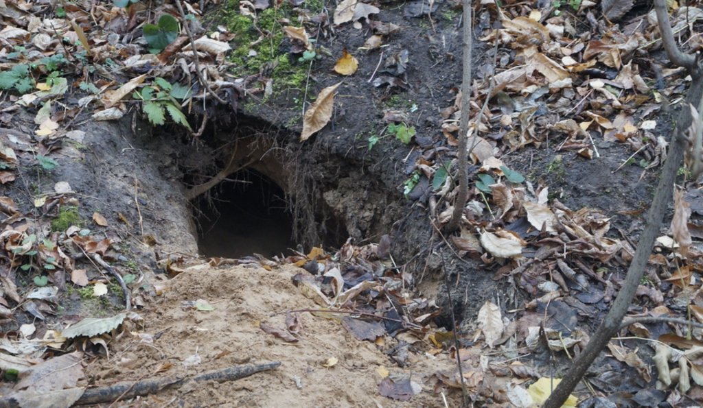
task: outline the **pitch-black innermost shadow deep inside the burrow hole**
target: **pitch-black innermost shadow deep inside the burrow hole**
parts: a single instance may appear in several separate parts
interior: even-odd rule
[[[198,246],[205,256],[241,258],[261,254],[291,255],[292,217],[285,194],[273,181],[253,170],[229,176],[214,187],[212,202],[201,198]]]

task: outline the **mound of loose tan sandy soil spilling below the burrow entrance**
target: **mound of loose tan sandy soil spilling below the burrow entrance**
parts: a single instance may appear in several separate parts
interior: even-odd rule
[[[300,341],[285,343],[266,334],[260,323],[285,327],[286,310],[318,309],[300,294],[291,277],[301,268],[281,265],[273,270],[232,266],[191,266],[141,311],[142,333],[154,336],[142,343],[138,336],[122,336],[110,343],[110,358],[97,359],[87,371],[89,383],[101,386],[114,381],[135,381],[153,376],[193,376],[205,371],[257,362],[280,361],[280,367],[233,383],[202,383],[153,395],[180,407],[388,407],[379,395],[382,373],[411,376],[423,392],[411,401],[393,401],[394,407],[444,406],[434,392],[438,371],[453,373],[456,360],[442,354],[432,357],[411,353],[407,367],[398,367],[383,353],[391,344],[358,341],[337,320],[301,312]],[[161,284],[157,284],[160,286]],[[187,301],[204,300],[214,310],[182,308]],[[386,342],[394,340],[388,336]],[[193,355],[201,363],[186,367]],[[336,364],[325,367],[330,359]],[[186,364],[184,364],[186,362]],[[153,374],[170,364],[169,369]],[[387,374],[383,374],[387,375]],[[445,390],[451,406],[458,406],[458,390]],[[151,397],[143,398],[148,403]],[[121,402],[114,407],[131,407]]]

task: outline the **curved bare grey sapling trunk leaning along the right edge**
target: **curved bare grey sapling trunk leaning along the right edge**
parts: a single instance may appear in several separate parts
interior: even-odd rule
[[[583,375],[586,374],[588,367],[591,367],[593,360],[598,357],[600,351],[607,345],[617,331],[619,331],[622,319],[627,311],[628,306],[632,303],[632,298],[635,295],[640,279],[645,271],[647,261],[652,254],[654,239],[659,235],[659,227],[662,225],[666,206],[671,198],[673,184],[676,181],[676,173],[681,166],[683,154],[686,147],[685,132],[691,125],[691,114],[689,104],[698,106],[703,91],[703,72],[697,66],[697,62],[692,55],[682,53],[673,40],[671,33],[671,23],[669,22],[669,14],[666,11],[666,0],[655,0],[654,6],[657,8],[657,18],[659,20],[659,32],[662,33],[662,41],[666,48],[666,53],[673,64],[686,67],[692,77],[691,86],[686,96],[685,106],[681,107],[676,119],[676,129],[671,136],[671,148],[669,149],[669,157],[666,158],[666,164],[662,171],[662,176],[659,178],[659,185],[654,194],[654,200],[650,210],[647,211],[647,224],[640,236],[640,242],[637,246],[637,251],[627,271],[627,275],[622,284],[619,294],[615,299],[610,312],[605,316],[605,319],[591,336],[591,341],[583,350],[579,358],[576,359],[574,365],[561,383],[557,386],[554,392],[543,405],[543,408],[559,408],[569,397],[569,394],[574,390],[576,384],[581,381]]]

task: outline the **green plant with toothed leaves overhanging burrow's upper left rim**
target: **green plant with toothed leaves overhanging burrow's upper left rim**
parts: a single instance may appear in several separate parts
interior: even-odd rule
[[[166,121],[166,112],[168,112],[176,123],[192,130],[186,115],[181,112],[181,104],[176,100],[176,98],[181,100],[188,98],[190,96],[188,88],[180,84],[170,84],[163,78],[154,79],[154,84],[155,86],[145,86],[141,91],[134,92],[135,99],[144,101],[143,111],[149,121],[155,125],[162,125]]]

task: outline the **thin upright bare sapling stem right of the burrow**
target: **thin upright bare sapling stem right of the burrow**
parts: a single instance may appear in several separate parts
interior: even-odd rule
[[[469,114],[471,112],[471,51],[472,51],[472,8],[471,0],[463,0],[463,74],[461,81],[461,122],[459,126],[459,154],[458,162],[459,169],[457,178],[459,179],[459,187],[456,193],[456,201],[454,202],[454,212],[451,215],[451,221],[447,225],[449,231],[454,231],[459,228],[461,217],[466,206],[466,196],[469,191],[469,159],[468,159],[468,136],[469,131]]]

